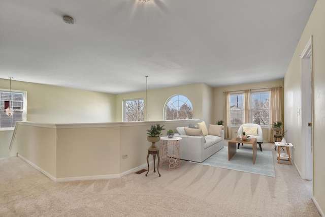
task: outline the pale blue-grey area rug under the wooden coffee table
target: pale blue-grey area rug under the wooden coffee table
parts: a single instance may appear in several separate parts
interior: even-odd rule
[[[241,147],[237,149],[234,157],[228,161],[228,147],[224,146],[210,158],[198,164],[275,177],[272,151],[264,150],[261,152],[257,149],[255,164],[253,164],[252,151],[251,148]]]

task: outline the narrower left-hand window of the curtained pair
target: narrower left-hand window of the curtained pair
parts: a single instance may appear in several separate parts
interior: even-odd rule
[[[243,124],[243,94],[230,95],[230,123],[232,126]]]

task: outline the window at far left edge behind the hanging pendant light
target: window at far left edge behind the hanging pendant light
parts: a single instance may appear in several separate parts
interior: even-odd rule
[[[26,91],[0,90],[0,129],[12,129],[17,121],[26,121]],[[10,102],[11,100],[11,102]],[[14,114],[8,116],[6,108],[12,106]]]

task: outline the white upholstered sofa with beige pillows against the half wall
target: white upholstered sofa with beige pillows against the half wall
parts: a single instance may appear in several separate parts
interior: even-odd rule
[[[179,157],[182,160],[201,163],[224,146],[223,130],[220,137],[212,135],[189,136],[186,135],[184,127],[178,127],[176,130],[178,133],[175,136],[182,138],[179,144]]]

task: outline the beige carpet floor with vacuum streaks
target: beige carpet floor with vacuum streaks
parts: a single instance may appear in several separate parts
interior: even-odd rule
[[[226,143],[225,143],[226,144]],[[312,181],[276,163],[276,177],[181,161],[176,171],[53,182],[17,157],[0,159],[0,216],[320,216]],[[258,158],[258,156],[257,156]]]

